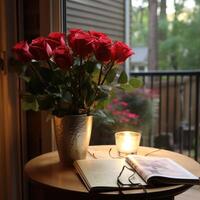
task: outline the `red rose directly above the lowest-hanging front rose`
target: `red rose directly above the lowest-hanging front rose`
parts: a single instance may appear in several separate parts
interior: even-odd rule
[[[52,32],[46,38],[47,43],[51,49],[54,50],[56,47],[65,45],[65,34],[60,32]]]

